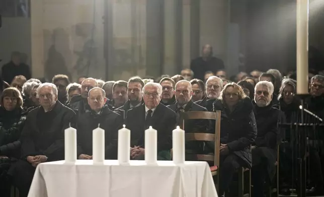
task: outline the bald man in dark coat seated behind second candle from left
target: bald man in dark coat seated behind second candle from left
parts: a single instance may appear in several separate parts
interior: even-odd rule
[[[80,115],[77,120],[77,155],[78,159],[92,159],[92,131],[98,128],[105,130],[105,158],[117,159],[117,136],[122,128],[123,118],[109,110],[106,103],[106,93],[100,87],[89,91],[88,104],[90,112]]]

